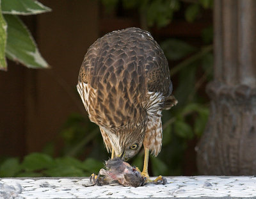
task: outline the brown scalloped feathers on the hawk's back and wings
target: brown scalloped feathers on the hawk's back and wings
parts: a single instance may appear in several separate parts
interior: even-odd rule
[[[108,33],[91,45],[79,81],[97,90],[93,107],[109,121],[95,122],[109,123],[112,127],[138,120],[141,102],[148,91],[169,95],[170,90],[163,51],[150,33],[138,28]]]

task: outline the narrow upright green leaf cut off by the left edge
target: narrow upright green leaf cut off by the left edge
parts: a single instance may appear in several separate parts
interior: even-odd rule
[[[0,0],[1,3],[1,0]],[[5,46],[6,46],[6,22],[1,12],[0,5],[0,70],[7,70],[7,64],[5,60]]]

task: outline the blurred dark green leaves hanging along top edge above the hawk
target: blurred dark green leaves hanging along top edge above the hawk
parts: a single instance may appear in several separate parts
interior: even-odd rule
[[[123,4],[125,9],[137,9],[145,13],[147,26],[156,25],[158,28],[167,26],[172,22],[175,12],[180,10],[182,1],[179,0],[101,0],[108,12],[114,10],[118,4]],[[184,16],[188,22],[193,22],[200,15],[202,8],[209,9],[213,0],[200,0],[191,3],[185,10]]]

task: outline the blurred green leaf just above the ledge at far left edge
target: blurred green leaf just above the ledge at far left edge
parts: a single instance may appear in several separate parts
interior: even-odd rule
[[[15,174],[20,171],[19,159],[6,159],[0,166],[0,177],[15,177]]]

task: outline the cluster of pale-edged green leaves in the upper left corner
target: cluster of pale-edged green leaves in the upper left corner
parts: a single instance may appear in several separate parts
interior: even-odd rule
[[[51,9],[33,0],[1,0],[0,3],[0,70],[7,70],[5,57],[29,68],[47,68],[31,33],[17,15],[35,15]]]

